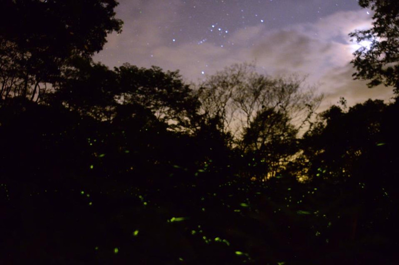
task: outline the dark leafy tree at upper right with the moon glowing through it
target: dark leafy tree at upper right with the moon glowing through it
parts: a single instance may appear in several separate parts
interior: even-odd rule
[[[369,87],[393,86],[398,94],[399,3],[396,0],[360,0],[359,4],[375,13],[371,29],[350,33],[358,43],[371,42],[370,47],[361,47],[354,53],[352,64],[357,70],[354,77],[370,80]]]

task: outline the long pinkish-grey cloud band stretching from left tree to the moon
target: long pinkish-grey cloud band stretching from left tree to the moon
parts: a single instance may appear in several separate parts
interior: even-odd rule
[[[178,35],[172,42],[175,37],[167,35],[171,32],[167,28],[180,28],[182,4],[181,0],[121,1],[117,16],[125,21],[123,32],[110,35],[105,50],[95,59],[110,66],[129,62],[140,67],[180,69],[188,82],[202,80],[233,63],[256,62],[270,75],[308,75],[308,83],[318,84],[319,91],[326,93],[324,107],[336,103],[340,96],[349,103],[392,96],[391,88],[369,89],[367,82],[352,79],[349,63],[356,45],[349,42],[348,34],[371,26],[371,16],[364,10],[336,12],[314,23],[280,29],[270,30],[259,23],[229,30],[221,47],[208,41],[183,41]]]

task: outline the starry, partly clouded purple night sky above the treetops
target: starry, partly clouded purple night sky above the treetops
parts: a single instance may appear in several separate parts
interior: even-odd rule
[[[199,83],[234,63],[255,63],[271,76],[299,74],[325,94],[320,110],[368,98],[390,99],[392,88],[353,81],[348,33],[371,26],[357,0],[120,0],[121,34],[108,36],[94,57],[107,66],[179,69]],[[367,45],[362,44],[362,45]]]

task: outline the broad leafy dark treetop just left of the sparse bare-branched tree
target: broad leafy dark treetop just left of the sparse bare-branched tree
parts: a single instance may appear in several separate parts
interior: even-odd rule
[[[83,58],[75,58],[74,65],[65,71],[55,92],[46,96],[48,103],[62,104],[102,121],[152,116],[150,119],[167,124],[170,130],[195,129],[199,102],[178,71],[129,64],[112,71]]]

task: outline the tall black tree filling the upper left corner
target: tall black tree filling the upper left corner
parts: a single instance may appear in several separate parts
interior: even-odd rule
[[[4,0],[0,3],[0,102],[39,100],[76,56],[90,58],[121,31],[115,0]]]

